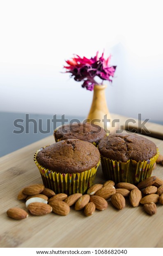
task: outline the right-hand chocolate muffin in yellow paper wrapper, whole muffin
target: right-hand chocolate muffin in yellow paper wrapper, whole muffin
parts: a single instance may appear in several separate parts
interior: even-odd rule
[[[154,142],[134,134],[112,134],[98,145],[103,175],[115,183],[137,184],[151,176],[159,155]]]

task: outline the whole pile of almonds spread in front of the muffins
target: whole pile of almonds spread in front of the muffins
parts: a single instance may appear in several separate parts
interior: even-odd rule
[[[163,204],[163,180],[152,176],[140,182],[137,187],[130,183],[117,183],[108,180],[103,185],[95,184],[87,190],[87,194],[55,194],[53,190],[45,188],[42,184],[33,184],[23,188],[19,194],[19,200],[26,200],[27,211],[14,207],[7,211],[11,218],[21,220],[28,217],[28,213],[35,216],[55,213],[65,216],[70,212],[70,207],[75,206],[76,211],[84,210],[85,216],[90,216],[95,209],[100,211],[108,207],[110,200],[112,205],[121,210],[126,205],[125,198],[129,197],[133,207],[143,205],[143,209],[149,214],[156,213],[156,203]]]

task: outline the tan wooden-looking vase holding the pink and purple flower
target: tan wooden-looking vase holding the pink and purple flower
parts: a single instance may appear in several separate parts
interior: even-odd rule
[[[106,85],[94,85],[92,106],[90,108],[90,112],[87,116],[87,119],[90,119],[90,121],[93,121],[94,119],[99,119],[100,121],[99,120],[93,121],[93,123],[98,124],[99,126],[103,127],[105,130],[107,129],[108,131],[112,132],[113,131],[113,128],[111,126],[112,119],[111,119],[110,112],[108,110],[106,96],[105,96],[106,87],[107,87]],[[104,121],[104,116],[105,116],[105,119],[107,117],[107,119],[110,121]]]

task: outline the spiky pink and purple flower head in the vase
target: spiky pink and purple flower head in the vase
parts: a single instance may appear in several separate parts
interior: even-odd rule
[[[91,91],[94,89],[95,84],[99,84],[94,80],[95,76],[102,79],[100,84],[103,83],[103,80],[112,82],[110,76],[114,76],[116,69],[116,66],[109,66],[111,56],[108,59],[104,59],[103,54],[100,58],[98,54],[99,52],[96,53],[94,58],[90,59],[75,55],[71,60],[66,61],[68,66],[64,66],[67,69],[66,73],[71,73],[71,77],[75,81],[84,81],[82,87]]]

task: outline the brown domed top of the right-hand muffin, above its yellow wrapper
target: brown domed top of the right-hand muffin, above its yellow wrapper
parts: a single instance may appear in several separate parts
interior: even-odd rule
[[[112,134],[104,137],[98,145],[101,155],[126,162],[129,159],[143,161],[157,154],[156,145],[151,140],[136,134]]]

